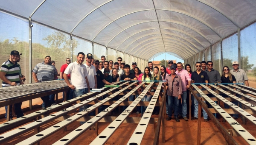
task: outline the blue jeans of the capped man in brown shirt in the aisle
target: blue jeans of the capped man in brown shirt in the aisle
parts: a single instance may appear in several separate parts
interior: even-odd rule
[[[168,97],[168,117],[172,118],[172,108],[174,106],[174,117],[178,117],[179,113],[179,100],[178,97],[167,96]]]

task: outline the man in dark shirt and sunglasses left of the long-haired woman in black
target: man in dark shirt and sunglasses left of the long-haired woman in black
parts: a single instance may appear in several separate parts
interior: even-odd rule
[[[212,61],[207,61],[207,69],[205,72],[207,73],[209,77],[209,83],[216,84],[216,83],[221,83],[221,74],[218,72],[218,70],[214,70],[213,67],[213,62]]]

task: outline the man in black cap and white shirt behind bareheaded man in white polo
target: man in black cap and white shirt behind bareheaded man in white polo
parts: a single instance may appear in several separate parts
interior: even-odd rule
[[[97,88],[97,73],[95,67],[91,65],[92,59],[93,55],[91,53],[88,53],[86,57],[86,62],[84,64],[87,70],[87,78],[90,89]]]

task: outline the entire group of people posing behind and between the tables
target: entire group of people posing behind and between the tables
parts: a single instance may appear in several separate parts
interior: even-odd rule
[[[17,63],[20,61],[20,55],[18,51],[13,50],[9,60],[2,64],[0,78],[3,81],[3,87],[16,86],[23,84],[23,81],[25,81],[25,76],[21,74],[20,65]],[[232,64],[233,70],[224,66],[222,75],[220,75],[217,70],[213,69],[212,61],[196,62],[196,70],[194,72],[192,72],[189,64],[186,64],[185,69],[183,69],[181,62],[174,64],[172,60],[169,60],[168,67],[161,66],[159,70],[159,67],[154,67],[153,63],[149,61],[148,67],[145,67],[142,73],[139,67],[137,67],[136,62],[132,62],[131,68],[129,64],[125,64],[125,61],[122,61],[121,57],[118,57],[116,62],[113,60],[107,61],[105,56],[101,56],[101,60],[97,60],[93,59],[91,53],[85,55],[79,52],[76,58],[77,60],[73,63],[71,63],[70,58],[67,58],[66,63],[61,66],[60,73],[58,73],[58,70],[55,68],[55,61],[52,61],[50,56],[46,56],[42,63],[35,66],[32,71],[32,77],[35,82],[41,82],[51,81],[57,78],[57,76],[60,76],[71,88],[71,90],[67,92],[67,100],[84,95],[93,88],[102,88],[105,84],[113,84],[120,80],[139,81],[139,83],[141,83],[141,81],[146,81],[146,83],[150,83],[150,81],[165,81],[167,90],[166,113],[168,114],[166,120],[171,120],[172,113],[174,113],[176,122],[180,122],[180,118],[188,120],[188,88],[192,83],[216,84],[238,82],[249,86],[247,75],[244,70],[239,69],[237,61],[234,61]],[[84,60],[86,60],[85,63]],[[201,96],[200,94],[197,95],[199,97]],[[133,101],[137,96],[138,95],[131,95],[128,99]],[[238,97],[241,96],[238,95]],[[150,101],[151,98],[152,95],[146,95],[142,101]],[[41,97],[41,99],[44,102],[42,108],[55,105],[54,95],[44,96]],[[198,101],[193,99],[193,96],[192,100],[194,106],[192,108],[192,111],[194,110],[194,117],[192,117],[192,119],[197,119]],[[21,103],[16,103],[14,106],[17,118],[22,117]],[[228,105],[225,105],[225,108],[228,107]],[[87,106],[83,106],[80,108],[80,111],[86,108]],[[145,109],[146,107],[142,107],[141,110],[137,107],[137,114],[143,113]],[[11,113],[12,112],[10,112],[10,118],[12,118]],[[159,114],[159,107],[154,109],[153,114]],[[203,116],[204,121],[208,121],[208,116],[204,109]],[[234,114],[233,117],[238,118],[238,115]]]

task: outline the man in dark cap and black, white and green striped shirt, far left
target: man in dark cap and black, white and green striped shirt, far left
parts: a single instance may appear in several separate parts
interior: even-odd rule
[[[4,62],[0,69],[0,78],[2,80],[2,87],[6,86],[16,86],[20,84],[20,67],[17,65],[17,60],[19,59],[19,52],[16,50],[13,50],[10,54],[10,58],[8,61]],[[17,115],[17,118],[23,117],[23,112],[21,110],[21,104],[15,103],[15,113]],[[6,109],[6,115],[7,117],[7,106],[5,106]],[[10,105],[10,109],[12,109],[12,105]],[[12,110],[9,112],[9,118],[12,120]],[[9,120],[8,120],[9,121]]]

